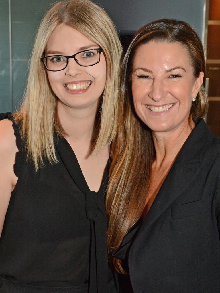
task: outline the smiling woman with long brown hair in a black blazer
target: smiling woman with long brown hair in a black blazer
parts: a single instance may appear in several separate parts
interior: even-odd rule
[[[162,19],[136,33],[106,200],[111,263],[131,281],[122,292],[220,292],[220,138],[201,118],[204,82],[190,25]]]

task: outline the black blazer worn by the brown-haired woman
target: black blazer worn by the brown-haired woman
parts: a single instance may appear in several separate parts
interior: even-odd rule
[[[135,293],[219,293],[219,230],[220,138],[200,119],[143,223],[113,256],[128,259]]]

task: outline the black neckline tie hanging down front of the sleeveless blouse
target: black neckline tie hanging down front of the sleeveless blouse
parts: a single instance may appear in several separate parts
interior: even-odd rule
[[[106,167],[102,184],[98,192],[89,190],[84,179],[82,170],[77,164],[74,168],[72,160],[77,161],[74,151],[69,143],[62,138],[57,138],[55,142],[57,151],[67,168],[70,176],[85,194],[86,215],[90,221],[91,239],[90,239],[90,259],[89,259],[89,293],[107,293],[108,292],[108,261],[106,245],[106,225],[103,225],[103,215],[105,216],[105,205],[100,194],[104,194],[108,179],[108,168]],[[68,151],[67,151],[68,149]],[[109,162],[108,162],[109,164]],[[82,176],[79,176],[81,173]]]

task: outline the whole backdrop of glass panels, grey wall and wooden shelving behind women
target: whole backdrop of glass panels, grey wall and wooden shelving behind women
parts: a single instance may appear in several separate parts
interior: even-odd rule
[[[40,20],[55,0],[1,0],[0,112],[18,110],[26,88],[28,62]],[[204,119],[220,136],[220,0],[98,0],[113,19],[126,49],[141,26],[159,18],[188,22],[207,54],[209,112]],[[208,82],[207,82],[208,85]]]

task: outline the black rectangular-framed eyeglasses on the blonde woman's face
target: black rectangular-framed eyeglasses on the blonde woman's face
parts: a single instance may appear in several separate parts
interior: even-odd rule
[[[51,55],[41,57],[40,60],[43,62],[45,68],[49,71],[60,71],[67,67],[69,59],[73,58],[80,66],[92,66],[100,61],[101,48],[90,49],[77,52],[72,56],[64,55]]]

